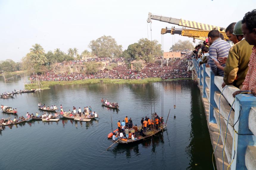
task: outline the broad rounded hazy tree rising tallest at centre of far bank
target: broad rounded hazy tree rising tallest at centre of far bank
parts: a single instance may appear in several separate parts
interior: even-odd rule
[[[92,50],[92,54],[98,57],[119,57],[122,53],[122,45],[111,36],[102,36],[96,40],[90,41],[88,47]]]

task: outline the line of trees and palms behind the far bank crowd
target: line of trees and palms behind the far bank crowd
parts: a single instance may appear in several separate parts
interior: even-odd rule
[[[180,46],[180,41],[178,43]],[[157,40],[150,41],[146,38],[139,39],[138,42],[129,45],[124,51],[122,50],[122,45],[118,45],[113,37],[105,35],[90,41],[88,47],[91,52],[84,50],[79,54],[77,48],[69,48],[65,53],[60,48],[56,48],[54,51],[50,50],[46,53],[40,44],[35,44],[30,48],[30,52],[22,58],[21,66],[22,69],[26,69],[30,73],[40,73],[51,70],[55,63],[90,57],[123,57],[127,63],[134,59],[143,59],[148,63],[152,63],[154,58],[162,56],[163,53]],[[186,45],[187,47],[188,45]],[[88,67],[91,67],[91,65],[89,64]]]

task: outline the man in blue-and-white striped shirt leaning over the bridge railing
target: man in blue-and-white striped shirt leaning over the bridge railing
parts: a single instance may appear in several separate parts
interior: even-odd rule
[[[210,43],[210,58],[209,65],[215,76],[224,76],[224,71],[218,69],[213,60],[217,60],[219,57],[228,57],[230,50],[230,44],[220,38],[220,32],[218,30],[212,30],[208,33],[208,39]],[[225,66],[226,64],[221,64]]]

